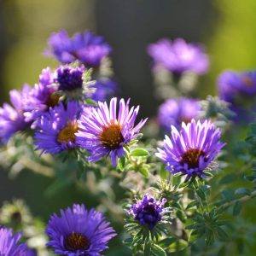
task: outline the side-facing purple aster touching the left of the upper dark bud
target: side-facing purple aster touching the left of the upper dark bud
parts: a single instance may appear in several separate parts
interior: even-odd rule
[[[50,68],[43,69],[39,76],[39,84],[35,84],[30,92],[29,98],[25,102],[26,112],[24,113],[26,121],[33,121],[32,128],[38,123],[38,118],[47,113],[59,103],[60,96],[55,95],[56,89],[50,86],[54,83],[54,75]]]

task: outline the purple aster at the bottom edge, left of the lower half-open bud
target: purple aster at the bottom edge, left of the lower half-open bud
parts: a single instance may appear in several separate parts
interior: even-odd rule
[[[88,211],[84,205],[61,210],[60,217],[53,214],[46,234],[50,238],[47,245],[53,247],[55,253],[69,256],[102,255],[108,241],[116,236],[102,212]]]

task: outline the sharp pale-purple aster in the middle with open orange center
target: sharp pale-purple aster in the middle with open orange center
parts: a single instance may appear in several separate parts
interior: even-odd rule
[[[137,137],[147,120],[134,126],[139,106],[129,109],[129,102],[119,101],[118,117],[117,98],[111,99],[109,108],[107,102],[98,102],[98,108],[92,109],[90,116],[82,114],[76,141],[81,148],[90,151],[87,160],[96,161],[110,154],[113,166],[116,166],[117,157],[125,155],[125,145]]]

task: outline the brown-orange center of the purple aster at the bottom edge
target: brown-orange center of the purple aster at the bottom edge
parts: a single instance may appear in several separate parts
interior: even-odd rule
[[[86,236],[72,232],[72,234],[65,239],[65,247],[72,252],[87,250],[90,247],[90,241]]]

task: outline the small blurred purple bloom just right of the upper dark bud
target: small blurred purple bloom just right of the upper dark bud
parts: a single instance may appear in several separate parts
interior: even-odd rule
[[[88,93],[87,96],[96,102],[104,102],[113,96],[117,84],[111,79],[99,79],[95,84],[91,84],[90,88],[94,88],[95,91]]]

